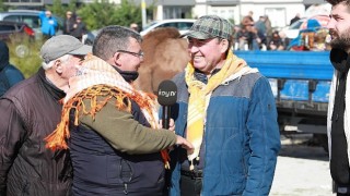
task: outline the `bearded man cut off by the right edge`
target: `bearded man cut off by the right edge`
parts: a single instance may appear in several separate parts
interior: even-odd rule
[[[338,196],[350,195],[350,2],[327,0],[332,7],[327,24],[331,36],[329,59],[335,68],[328,101],[327,133],[330,174]]]

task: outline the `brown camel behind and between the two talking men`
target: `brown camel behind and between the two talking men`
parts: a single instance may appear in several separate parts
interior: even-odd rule
[[[137,88],[155,93],[162,81],[171,79],[184,70],[189,61],[188,44],[179,35],[176,28],[164,27],[143,36],[144,59],[135,82]]]

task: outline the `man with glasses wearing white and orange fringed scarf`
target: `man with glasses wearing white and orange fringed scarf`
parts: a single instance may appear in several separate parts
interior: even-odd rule
[[[168,166],[164,149],[175,144],[192,148],[174,132],[160,130],[154,100],[131,85],[143,61],[141,40],[127,27],[102,28],[94,56],[70,79],[62,120],[46,140],[54,150],[69,145],[73,195],[161,196]]]

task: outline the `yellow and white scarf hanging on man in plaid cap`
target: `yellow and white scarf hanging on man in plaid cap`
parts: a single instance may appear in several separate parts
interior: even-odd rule
[[[217,74],[212,75],[206,85],[196,79],[194,75],[194,65],[190,62],[187,64],[185,70],[185,81],[188,85],[189,100],[186,138],[195,147],[194,154],[188,156],[188,160],[191,162],[190,170],[194,169],[192,160],[196,158],[199,160],[199,150],[205,132],[207,106],[209,103],[211,93],[228,77],[237,73],[244,66],[246,66],[246,62],[230,51],[222,69]]]

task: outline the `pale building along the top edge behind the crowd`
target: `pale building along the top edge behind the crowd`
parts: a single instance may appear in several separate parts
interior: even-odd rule
[[[141,5],[142,0],[133,0]],[[324,0],[143,0],[147,7],[154,5],[152,19],[197,19],[206,14],[217,14],[238,24],[243,16],[253,11],[255,21],[260,15],[268,15],[272,27],[289,25],[291,19],[300,13],[304,16],[305,10],[313,4],[324,4]],[[3,0],[4,4],[14,7],[44,7],[52,4],[52,0]],[[69,0],[61,0],[68,4]],[[90,3],[93,0],[78,0],[80,3]],[[116,4],[120,0],[112,0]]]

